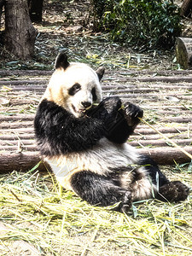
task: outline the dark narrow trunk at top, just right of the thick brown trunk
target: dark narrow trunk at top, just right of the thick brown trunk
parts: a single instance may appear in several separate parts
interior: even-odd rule
[[[29,6],[29,15],[32,22],[42,21],[42,9],[44,0],[27,0]]]

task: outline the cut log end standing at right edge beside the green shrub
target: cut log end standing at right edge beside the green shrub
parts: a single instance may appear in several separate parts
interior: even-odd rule
[[[176,57],[184,69],[192,67],[192,38],[177,38]]]

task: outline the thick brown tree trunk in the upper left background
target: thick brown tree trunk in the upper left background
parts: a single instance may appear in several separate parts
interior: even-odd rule
[[[37,35],[26,0],[5,1],[5,47],[22,60],[32,57]]]

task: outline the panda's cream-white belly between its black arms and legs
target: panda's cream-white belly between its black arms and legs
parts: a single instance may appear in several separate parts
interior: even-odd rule
[[[47,157],[55,177],[66,189],[71,189],[70,177],[83,170],[107,175],[114,168],[137,163],[135,148],[127,144],[114,144],[103,138],[96,147],[84,152]]]

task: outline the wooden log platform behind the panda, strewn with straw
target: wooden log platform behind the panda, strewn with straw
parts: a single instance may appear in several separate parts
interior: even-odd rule
[[[51,73],[0,71],[0,172],[38,163],[33,119]],[[102,90],[139,105],[154,128],[192,154],[192,71],[107,72]],[[138,125],[129,143],[159,164],[190,161],[148,125]]]

